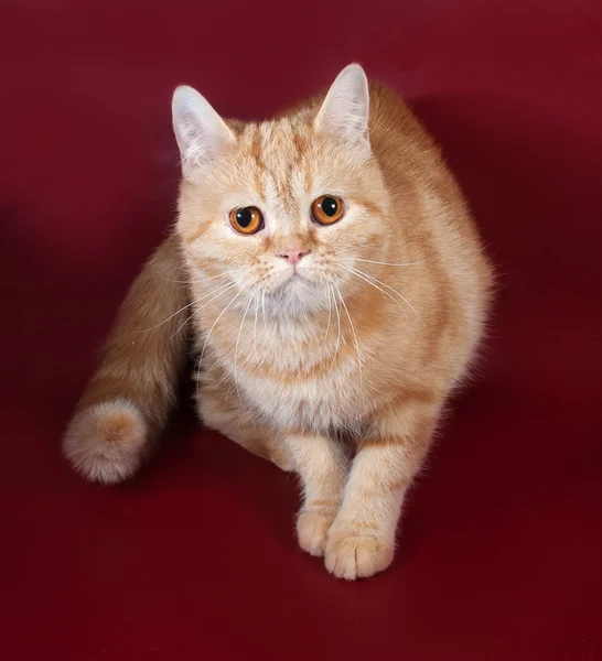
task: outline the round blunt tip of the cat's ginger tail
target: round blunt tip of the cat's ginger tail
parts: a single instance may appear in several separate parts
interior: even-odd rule
[[[63,454],[90,481],[114,484],[140,466],[149,431],[143,415],[128,400],[84,409],[69,423]]]

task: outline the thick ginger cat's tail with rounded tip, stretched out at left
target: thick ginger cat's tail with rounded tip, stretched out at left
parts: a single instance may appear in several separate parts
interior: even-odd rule
[[[65,457],[89,480],[110,484],[130,477],[165,425],[186,361],[183,279],[172,235],[131,285],[65,433]]]

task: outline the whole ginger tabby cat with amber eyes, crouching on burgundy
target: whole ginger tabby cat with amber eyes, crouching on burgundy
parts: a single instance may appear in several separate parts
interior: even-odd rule
[[[393,561],[404,498],[480,346],[493,270],[439,148],[358,64],[261,123],[173,95],[178,220],[123,302],[64,454],[130,477],[194,346],[208,427],[299,475],[301,548]]]

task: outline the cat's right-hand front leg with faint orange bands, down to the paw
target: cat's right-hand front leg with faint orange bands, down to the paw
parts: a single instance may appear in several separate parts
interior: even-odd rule
[[[361,443],[329,532],[325,564],[355,579],[387,568],[406,492],[428,452],[438,405],[408,404],[376,422]]]

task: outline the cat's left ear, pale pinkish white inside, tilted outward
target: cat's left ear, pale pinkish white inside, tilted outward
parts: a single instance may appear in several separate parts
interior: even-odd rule
[[[224,120],[196,89],[178,87],[172,100],[173,132],[180,148],[182,174],[190,177],[236,140]]]

